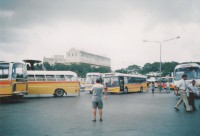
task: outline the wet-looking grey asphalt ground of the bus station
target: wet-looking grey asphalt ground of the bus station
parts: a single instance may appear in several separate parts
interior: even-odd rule
[[[91,94],[0,103],[0,136],[200,136],[198,111],[174,110],[173,93],[110,94],[92,122]],[[97,118],[98,119],[98,118]]]

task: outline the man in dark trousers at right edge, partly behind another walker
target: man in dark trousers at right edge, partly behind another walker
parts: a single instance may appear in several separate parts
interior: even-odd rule
[[[195,94],[197,94],[198,92],[198,88],[197,86],[195,85],[195,80],[192,80],[192,85],[189,86],[190,89],[188,89],[188,94],[189,94],[189,104],[192,106],[192,110],[193,111],[197,111],[196,107],[195,107],[195,103],[194,103],[194,97],[195,97]]]

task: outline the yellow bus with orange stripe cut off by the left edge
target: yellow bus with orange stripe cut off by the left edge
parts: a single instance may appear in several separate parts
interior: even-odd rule
[[[27,94],[26,65],[18,62],[0,62],[0,98]]]

